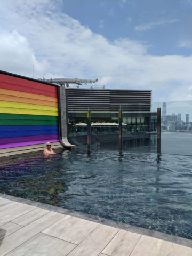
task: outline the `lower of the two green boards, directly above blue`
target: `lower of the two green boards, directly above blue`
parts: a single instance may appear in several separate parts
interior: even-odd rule
[[[1,120],[0,125],[58,125],[58,121],[49,120]]]

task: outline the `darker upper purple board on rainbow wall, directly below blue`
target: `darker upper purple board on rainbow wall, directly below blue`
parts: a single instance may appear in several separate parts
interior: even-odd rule
[[[50,141],[53,139],[59,139],[59,135],[58,134],[46,134],[46,135],[35,135],[35,136],[1,138],[0,145],[5,145],[5,144],[9,144],[9,143],[38,141],[38,140]]]

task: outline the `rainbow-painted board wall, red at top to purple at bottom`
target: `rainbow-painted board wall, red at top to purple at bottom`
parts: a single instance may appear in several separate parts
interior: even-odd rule
[[[0,149],[59,141],[57,86],[0,73]]]

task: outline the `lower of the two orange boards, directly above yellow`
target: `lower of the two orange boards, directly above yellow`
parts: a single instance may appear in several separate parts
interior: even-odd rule
[[[29,104],[36,104],[36,105],[43,105],[43,106],[52,106],[52,107],[58,107],[57,102],[51,102],[51,101],[45,101],[45,100],[34,100],[34,99],[27,99],[27,98],[21,98],[21,97],[14,97],[14,96],[8,96],[8,95],[2,95],[0,94],[0,100],[3,101],[11,101],[11,102],[19,102],[19,103],[29,103]]]

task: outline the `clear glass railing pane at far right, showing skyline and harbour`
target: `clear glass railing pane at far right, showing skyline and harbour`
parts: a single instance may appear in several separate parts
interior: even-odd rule
[[[162,154],[192,155],[192,101],[152,103],[161,107]]]

